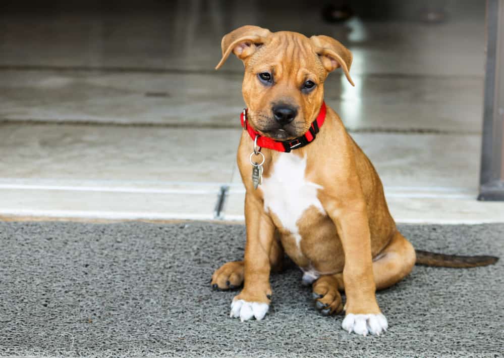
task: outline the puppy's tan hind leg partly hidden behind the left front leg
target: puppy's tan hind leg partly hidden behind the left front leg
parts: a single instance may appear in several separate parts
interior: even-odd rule
[[[284,249],[279,240],[274,240],[269,252],[271,271],[281,271],[283,260]],[[228,290],[240,287],[243,284],[244,271],[243,261],[231,261],[222,265],[212,275],[212,288]]]

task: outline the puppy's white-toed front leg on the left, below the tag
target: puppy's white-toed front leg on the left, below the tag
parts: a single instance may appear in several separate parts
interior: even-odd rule
[[[242,322],[253,317],[261,320],[268,312],[271,298],[269,258],[275,231],[270,217],[264,212],[263,203],[249,192],[245,195],[245,225],[244,286],[233,298],[230,314]]]

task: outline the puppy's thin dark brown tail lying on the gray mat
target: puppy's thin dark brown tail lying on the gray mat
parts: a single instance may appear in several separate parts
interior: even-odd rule
[[[459,256],[445,255],[429,251],[415,250],[417,254],[417,265],[467,268],[495,264],[499,258],[494,256]]]

